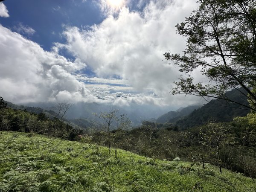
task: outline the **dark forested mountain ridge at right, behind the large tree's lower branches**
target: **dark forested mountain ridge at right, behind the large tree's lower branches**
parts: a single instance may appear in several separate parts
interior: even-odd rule
[[[243,92],[242,89],[240,91]],[[248,105],[247,97],[238,90],[231,90],[226,93],[228,98],[243,105]],[[158,123],[173,123],[179,129],[200,126],[209,121],[230,122],[236,116],[246,116],[250,110],[241,108],[240,105],[230,104],[225,100],[213,99],[207,104],[193,105],[181,108],[177,111],[170,111],[158,117]]]

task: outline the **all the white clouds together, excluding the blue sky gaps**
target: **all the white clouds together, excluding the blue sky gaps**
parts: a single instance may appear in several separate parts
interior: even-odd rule
[[[163,61],[164,52],[184,49],[185,40],[174,26],[192,7],[193,0],[150,1],[143,12],[123,7],[117,15],[108,12],[102,23],[88,30],[66,27],[66,43],[55,43],[52,52],[0,25],[0,95],[16,103],[192,104],[194,97],[185,100],[169,94],[180,73]],[[31,29],[17,32],[33,34]],[[62,49],[75,59],[61,56]],[[97,77],[79,74],[84,68]]]

